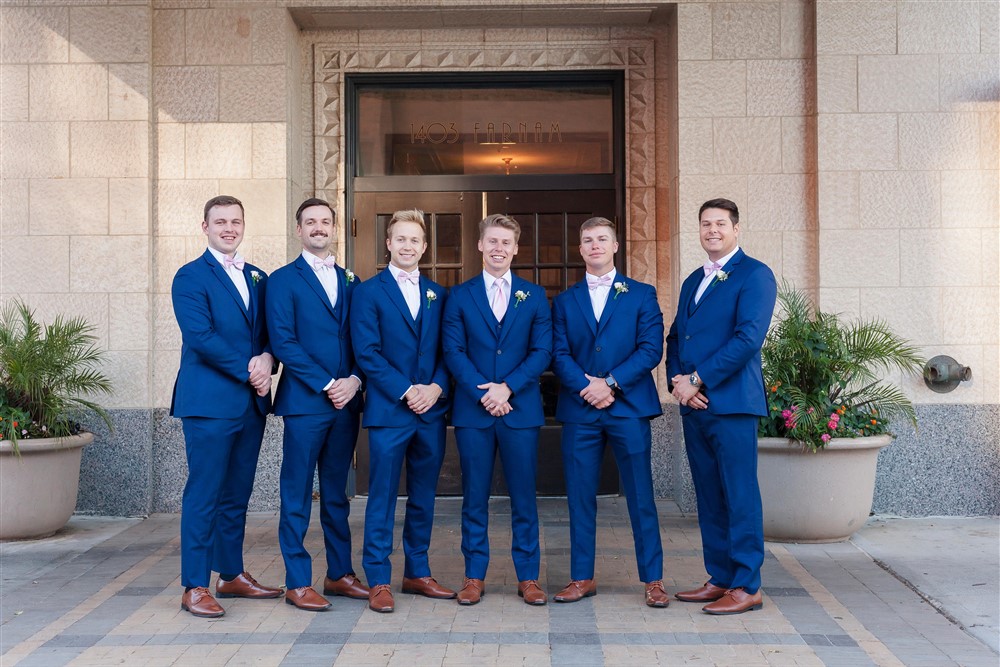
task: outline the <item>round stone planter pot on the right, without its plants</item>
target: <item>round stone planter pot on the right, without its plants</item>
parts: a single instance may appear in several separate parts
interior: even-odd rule
[[[888,435],[834,438],[812,452],[794,440],[760,438],[764,539],[842,542],[853,535],[871,513],[878,452],[891,442]]]

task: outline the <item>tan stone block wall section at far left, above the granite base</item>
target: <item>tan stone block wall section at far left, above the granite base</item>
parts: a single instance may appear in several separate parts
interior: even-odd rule
[[[0,7],[0,297],[46,319],[87,317],[117,388],[106,403],[147,406],[151,10],[10,4]]]

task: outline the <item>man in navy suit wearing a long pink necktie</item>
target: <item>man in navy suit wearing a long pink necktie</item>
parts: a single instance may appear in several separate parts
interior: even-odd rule
[[[452,288],[444,313],[444,357],[456,381],[452,421],[462,465],[463,605],[485,594],[498,451],[510,493],[518,595],[527,604],[546,602],[538,586],[535,473],[545,422],[538,378],[552,357],[552,318],[545,290],[511,273],[520,233],[517,222],[501,214],[479,223],[483,272]]]

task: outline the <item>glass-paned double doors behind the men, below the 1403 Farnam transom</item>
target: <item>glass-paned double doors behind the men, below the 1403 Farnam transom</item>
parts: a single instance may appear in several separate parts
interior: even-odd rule
[[[367,279],[383,270],[388,257],[385,227],[392,213],[401,209],[424,211],[428,247],[420,270],[445,287],[468,280],[482,271],[477,250],[479,221],[491,213],[511,215],[521,225],[518,254],[512,271],[545,289],[551,301],[569,285],[581,280],[584,265],[579,252],[580,224],[601,215],[614,219],[614,190],[512,191],[512,192],[377,192],[354,198],[354,271]],[[561,427],[555,421],[558,381],[549,372],[542,376],[546,425],[539,438],[539,495],[565,495],[560,451]],[[362,430],[356,458],[356,489],[368,491],[368,439]],[[405,471],[404,471],[405,475]],[[618,471],[610,453],[605,456],[599,492],[618,493]],[[400,482],[405,492],[405,477]],[[497,463],[492,493],[505,495]],[[461,495],[461,469],[454,430],[449,427],[447,452],[438,480],[439,495]]]

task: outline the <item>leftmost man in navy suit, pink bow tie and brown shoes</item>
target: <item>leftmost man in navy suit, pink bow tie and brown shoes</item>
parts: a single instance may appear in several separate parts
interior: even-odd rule
[[[170,414],[183,422],[188,479],[181,501],[181,608],[195,616],[225,610],[219,597],[276,598],[243,567],[247,504],[271,411],[274,358],[267,340],[267,276],[236,252],[243,204],[213,197],[201,230],[205,253],[174,276],[171,297],[181,330],[181,364]]]

